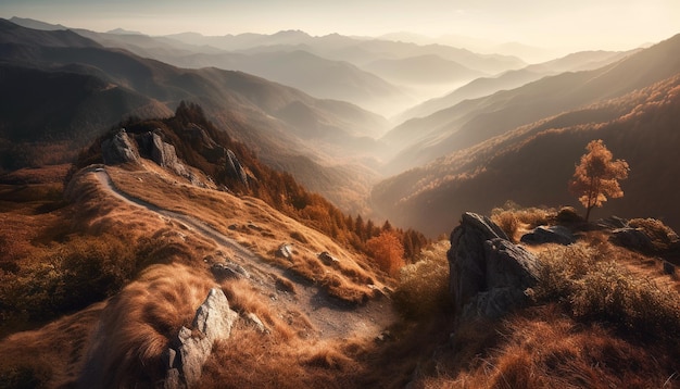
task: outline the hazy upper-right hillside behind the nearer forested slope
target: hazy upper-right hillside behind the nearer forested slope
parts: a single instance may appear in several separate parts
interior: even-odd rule
[[[517,126],[622,96],[680,70],[680,36],[600,70],[564,73],[408,121],[383,140],[401,150],[386,172],[400,173]]]

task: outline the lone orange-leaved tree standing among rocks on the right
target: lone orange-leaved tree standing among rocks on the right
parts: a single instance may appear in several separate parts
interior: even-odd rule
[[[576,166],[574,177],[569,181],[569,190],[585,206],[585,222],[593,206],[602,206],[607,198],[624,197],[619,179],[628,178],[628,163],[614,161],[612,152],[602,139],[593,140],[585,147],[588,153],[581,156]]]

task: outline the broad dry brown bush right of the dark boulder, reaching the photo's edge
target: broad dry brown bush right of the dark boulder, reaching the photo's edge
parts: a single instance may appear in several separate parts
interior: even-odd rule
[[[680,331],[680,296],[635,276],[605,252],[587,243],[545,250],[533,289],[539,301],[561,301],[575,317],[607,322],[617,328],[673,339]]]

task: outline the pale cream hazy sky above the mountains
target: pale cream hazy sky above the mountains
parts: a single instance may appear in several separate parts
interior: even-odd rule
[[[462,35],[545,48],[629,49],[680,33],[680,0],[0,0],[0,17],[149,35]]]

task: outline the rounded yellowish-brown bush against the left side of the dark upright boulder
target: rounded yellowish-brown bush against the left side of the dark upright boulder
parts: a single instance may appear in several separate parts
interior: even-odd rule
[[[402,267],[394,302],[405,316],[431,316],[451,306],[446,260],[450,247],[448,240],[433,243],[420,252],[417,262]]]

